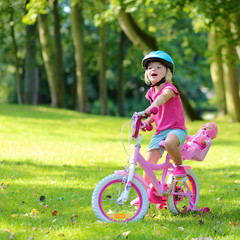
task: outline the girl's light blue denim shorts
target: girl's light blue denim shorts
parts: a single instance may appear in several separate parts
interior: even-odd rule
[[[159,143],[162,140],[165,140],[169,133],[173,133],[178,137],[179,142],[180,142],[179,146],[182,145],[187,138],[187,130],[167,129],[167,130],[164,130],[164,131],[160,132],[158,135],[153,135],[152,136],[152,139],[151,139],[151,142],[148,146],[147,151],[150,151],[152,149],[159,149],[160,154],[163,155],[164,149],[159,147]]]

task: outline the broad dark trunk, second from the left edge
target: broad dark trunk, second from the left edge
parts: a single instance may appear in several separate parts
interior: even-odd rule
[[[26,58],[24,72],[24,103],[37,104],[38,70],[37,70],[37,22],[26,25]]]

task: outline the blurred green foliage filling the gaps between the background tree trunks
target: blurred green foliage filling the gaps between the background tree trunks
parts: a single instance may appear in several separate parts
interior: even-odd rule
[[[209,72],[208,57],[211,53],[207,52],[207,31],[212,24],[222,30],[221,20],[226,18],[230,20],[239,13],[239,4],[237,0],[230,1],[183,1],[183,0],[112,0],[104,1],[79,1],[79,0],[62,0],[59,1],[59,13],[61,16],[61,38],[63,45],[63,58],[65,69],[65,87],[67,94],[67,106],[72,105],[72,89],[74,88],[75,62],[74,48],[72,44],[71,21],[70,14],[64,10],[64,7],[79,4],[82,2],[84,11],[84,41],[87,51],[85,62],[87,68],[89,104],[90,108],[94,108],[94,113],[99,112],[99,34],[98,27],[104,22],[107,27],[107,83],[108,97],[112,106],[117,106],[116,91],[118,77],[118,45],[120,39],[120,27],[117,22],[117,14],[120,7],[126,12],[131,13],[139,26],[146,32],[154,36],[158,42],[159,49],[168,52],[174,59],[176,64],[175,79],[184,89],[188,99],[193,102],[197,110],[201,111],[212,101],[206,97],[202,89],[208,88],[211,92],[212,82]],[[16,24],[17,43],[19,45],[19,58],[22,67],[22,78],[24,73],[24,57],[25,57],[25,29],[21,22],[32,24],[36,20],[39,13],[49,13],[49,1],[47,0],[31,0],[26,9],[24,9],[25,1],[1,1],[1,24],[0,24],[0,42],[1,68],[6,72],[1,72],[4,76],[5,100],[14,101],[14,59],[11,53],[10,24]],[[9,21],[10,10],[14,12],[14,20]],[[25,13],[24,11],[28,11]],[[186,14],[187,13],[187,14]],[[25,14],[25,16],[24,16]],[[23,17],[24,16],[24,17]],[[51,16],[51,14],[49,14]],[[50,33],[53,35],[52,20],[49,19]],[[227,31],[224,32],[225,39],[228,38]],[[239,43],[239,36],[234,38],[234,43]],[[226,44],[221,41],[220,45]],[[46,74],[41,57],[41,49],[38,49],[38,60],[40,66],[40,96],[41,103],[49,103],[49,86],[47,85]],[[129,109],[128,114],[137,106],[144,107],[148,102],[144,99],[144,93],[147,86],[141,80],[143,71],[140,62],[143,55],[128,40],[125,46],[124,60],[124,78],[125,78],[125,96],[126,105]],[[9,85],[9,83],[11,84]],[[42,84],[43,83],[43,84]],[[9,86],[9,88],[8,88]],[[7,89],[8,88],[8,89]],[[143,89],[144,88],[144,89]],[[10,97],[8,97],[8,95]],[[210,99],[211,100],[211,99]],[[210,108],[215,108],[213,104]],[[111,113],[115,113],[110,109]]]

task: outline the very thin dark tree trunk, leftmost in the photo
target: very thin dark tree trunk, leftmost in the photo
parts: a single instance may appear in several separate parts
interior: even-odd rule
[[[17,98],[18,98],[18,103],[22,104],[23,101],[22,101],[22,93],[21,93],[20,63],[18,58],[18,47],[17,47],[16,38],[15,38],[15,23],[13,20],[12,8],[10,12],[10,28],[11,28],[11,38],[12,38],[12,44],[13,44],[13,54],[15,58]]]

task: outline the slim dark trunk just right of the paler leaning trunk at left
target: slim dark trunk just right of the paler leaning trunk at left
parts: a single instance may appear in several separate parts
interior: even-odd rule
[[[62,43],[61,43],[61,32],[60,32],[60,18],[58,14],[58,0],[50,0],[50,6],[53,17],[53,26],[54,26],[54,46],[56,53],[56,75],[58,79],[59,88],[61,94],[61,107],[65,107],[65,87],[64,87],[64,70],[63,70],[63,57],[62,57]]]

